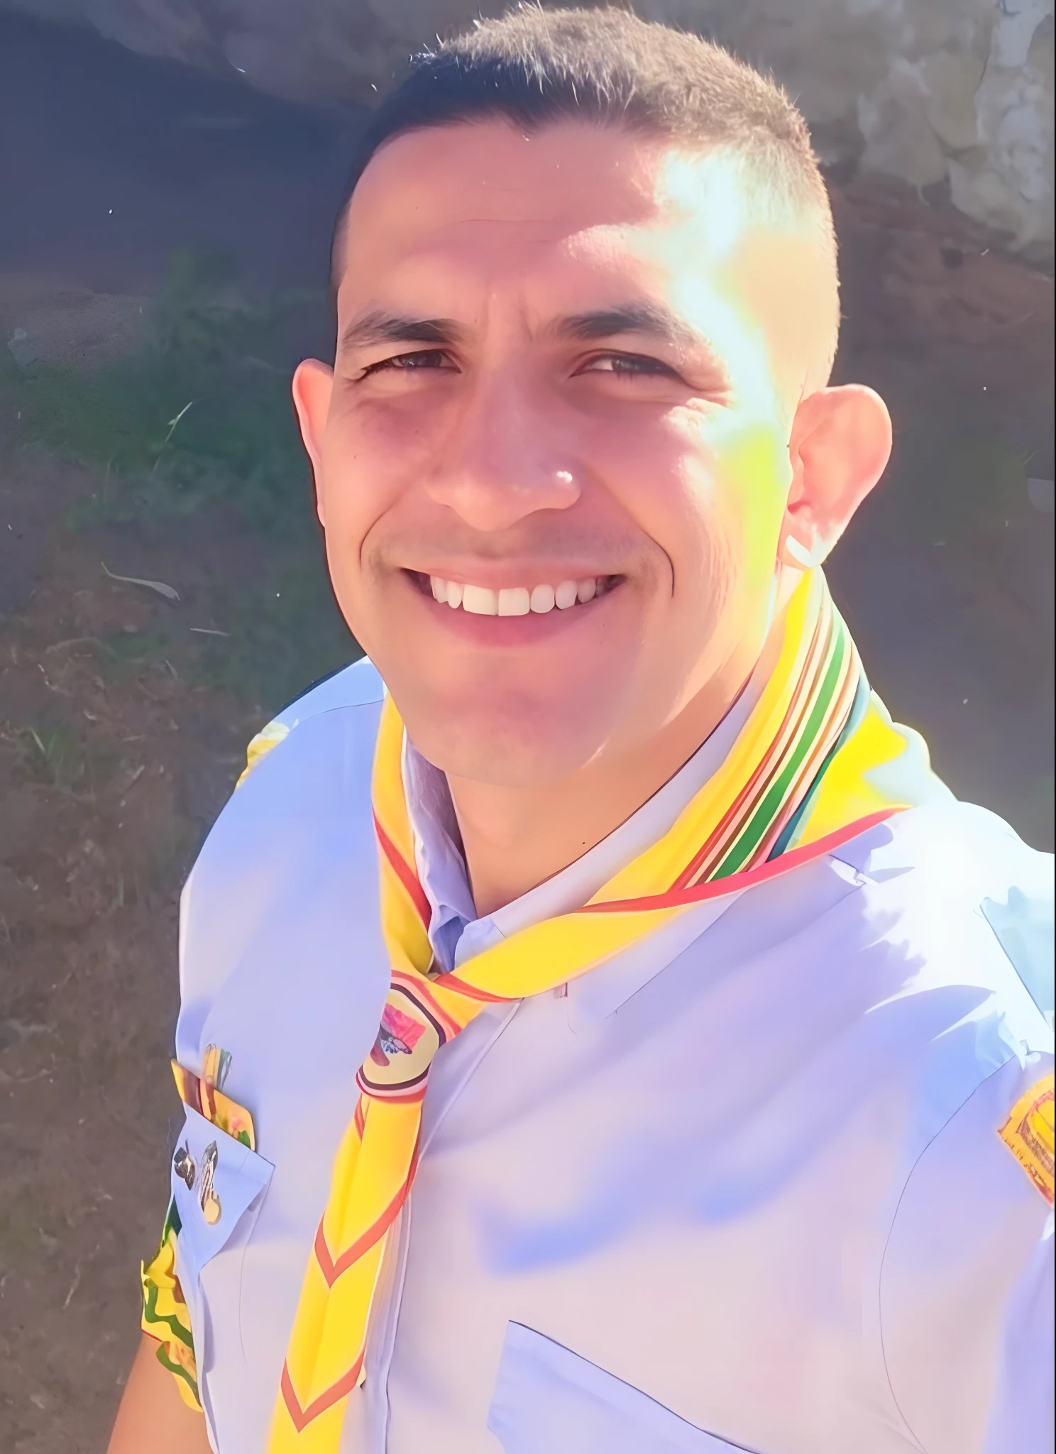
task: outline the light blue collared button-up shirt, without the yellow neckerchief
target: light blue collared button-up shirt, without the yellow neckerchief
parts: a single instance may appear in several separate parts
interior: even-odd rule
[[[173,1179],[222,1454],[264,1454],[388,989],[381,696],[362,663],[296,704],[184,891],[177,1056],[230,1050],[257,1128],[250,1153],[189,1114],[215,1226]],[[479,922],[408,769],[437,955],[582,901],[710,750]],[[940,800],[484,1011],[430,1075],[344,1454],[1047,1454],[1052,1211],[998,1134],[1052,1070],[1046,923],[1052,859]]]

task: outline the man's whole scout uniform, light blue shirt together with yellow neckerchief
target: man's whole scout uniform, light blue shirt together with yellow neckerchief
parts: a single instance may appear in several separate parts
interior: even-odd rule
[[[256,744],[144,1274],[221,1454],[1052,1447],[1052,861],[930,775],[819,573],[783,631],[484,920],[367,662]]]

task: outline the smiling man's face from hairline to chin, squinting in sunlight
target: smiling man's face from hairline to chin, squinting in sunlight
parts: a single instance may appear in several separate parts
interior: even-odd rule
[[[526,787],[646,750],[758,648],[834,281],[748,186],[572,122],[366,169],[333,388],[302,365],[295,394],[341,611],[436,766]]]

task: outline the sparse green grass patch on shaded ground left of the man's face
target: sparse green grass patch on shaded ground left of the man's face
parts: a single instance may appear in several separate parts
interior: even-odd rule
[[[19,369],[0,350],[0,407],[20,413],[25,442],[93,470],[93,490],[67,512],[73,529],[199,516],[208,528],[222,506],[212,518],[222,529],[241,522],[264,538],[269,566],[251,595],[211,590],[224,637],[195,634],[174,612],[110,635],[105,660],[112,670],[171,660],[270,710],[359,648],[327,585],[289,394],[292,340],[318,327],[322,297],[250,307],[234,284],[222,256],[173,254],[134,353],[93,369]]]

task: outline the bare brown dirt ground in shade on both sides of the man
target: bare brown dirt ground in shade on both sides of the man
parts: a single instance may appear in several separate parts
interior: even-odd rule
[[[128,348],[177,243],[227,241],[266,284],[318,284],[340,128],[57,35],[0,33],[0,128],[20,137],[0,189],[23,199],[0,233],[0,348],[19,329],[16,359],[17,343],[86,366]],[[182,116],[199,121],[174,129]],[[110,182],[137,214],[113,240],[102,211],[78,211]],[[835,199],[838,374],[888,397],[898,445],[834,592],[873,683],[959,795],[1050,848],[1052,484],[1046,510],[1027,478],[1053,477],[1052,279],[941,198]],[[275,547],[224,509],[70,528],[106,478],[29,446],[3,397],[0,1450],[97,1454],[166,1204],[177,894],[282,705],[203,672],[200,653]]]

